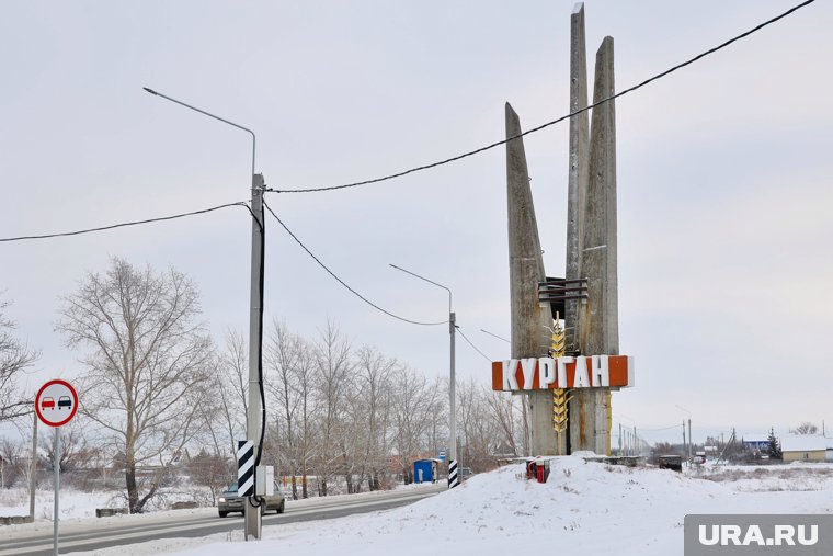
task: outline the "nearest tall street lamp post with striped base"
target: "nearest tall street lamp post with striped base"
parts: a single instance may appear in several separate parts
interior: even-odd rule
[[[265,228],[263,218],[263,190],[265,184],[263,181],[263,174],[254,173],[254,156],[258,138],[254,132],[248,127],[243,127],[240,124],[236,124],[229,120],[222,118],[218,115],[212,114],[204,110],[199,110],[191,104],[185,104],[182,101],[172,99],[166,94],[157,92],[152,89],[144,87],[144,89],[156,97],[161,97],[168,101],[171,101],[180,106],[193,110],[203,115],[218,120],[224,124],[228,124],[238,129],[249,133],[252,136],[252,253],[251,253],[251,280],[250,280],[250,314],[249,314],[249,406],[246,416],[246,433],[247,438],[252,440],[255,445],[255,457],[260,459],[258,451],[260,450],[261,427],[262,427],[262,411],[261,405],[261,343],[263,328],[263,246],[265,240]],[[244,504],[244,526],[243,533],[248,541],[250,537],[260,538],[262,531],[261,512],[259,507],[252,506],[252,497],[249,498]]]

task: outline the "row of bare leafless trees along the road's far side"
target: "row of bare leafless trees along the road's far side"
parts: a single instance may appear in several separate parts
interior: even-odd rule
[[[0,332],[8,332],[2,308]],[[414,459],[448,449],[446,378],[354,344],[334,321],[315,338],[279,320],[265,328],[262,464],[288,478],[289,496],[409,483]],[[61,298],[56,331],[80,353],[84,453],[92,445],[117,463],[132,512],[159,495],[183,454],[194,454],[185,467],[213,492],[233,480],[236,441],[246,438],[249,350],[238,331],[219,342],[210,337],[190,277],[114,258]],[[18,363],[4,374],[0,366],[0,418],[32,404],[14,399],[13,379],[37,354],[10,338],[12,351],[0,343],[0,365],[7,351]],[[524,453],[520,402],[487,381],[463,382],[456,392],[461,466],[486,470]]]

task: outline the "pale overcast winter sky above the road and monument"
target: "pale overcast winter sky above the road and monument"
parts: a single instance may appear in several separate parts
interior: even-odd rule
[[[616,89],[667,69],[798,0],[590,0],[589,59],[615,39]],[[0,237],[164,216],[277,189],[335,185],[433,162],[569,107],[572,1],[36,2],[0,18]],[[614,419],[704,433],[833,423],[833,5],[786,20],[616,103],[619,331],[637,387]],[[591,69],[592,71],[592,69]],[[526,138],[549,275],[563,275],[567,125]],[[510,334],[505,149],[381,184],[270,194],[345,282],[403,317],[443,320],[489,358]],[[187,273],[215,338],[247,332],[243,208],[128,229],[0,243],[0,288],[43,350],[30,389],[72,377],[53,331],[58,297],[109,258]],[[315,338],[328,318],[430,376],[447,327],[368,307],[267,220],[266,321]],[[271,325],[270,325],[271,326]],[[490,365],[463,339],[460,379]],[[676,433],[675,433],[676,434]],[[697,440],[697,435],[695,435]]]

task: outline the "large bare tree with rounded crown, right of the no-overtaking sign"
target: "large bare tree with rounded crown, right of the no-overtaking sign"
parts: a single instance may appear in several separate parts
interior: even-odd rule
[[[130,512],[142,511],[202,424],[213,350],[194,321],[198,314],[196,288],[185,275],[117,258],[104,275],[88,274],[62,298],[56,329],[68,347],[91,348],[82,360],[81,411],[124,454]]]

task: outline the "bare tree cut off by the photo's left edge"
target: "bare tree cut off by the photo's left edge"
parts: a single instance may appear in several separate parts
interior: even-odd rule
[[[32,412],[32,400],[22,398],[16,379],[41,355],[13,336],[18,325],[5,316],[10,305],[0,300],[0,422]]]

